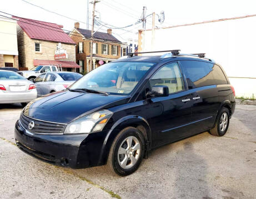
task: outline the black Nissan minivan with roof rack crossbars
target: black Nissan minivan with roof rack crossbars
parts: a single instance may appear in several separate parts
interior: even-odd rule
[[[28,103],[16,123],[17,146],[51,164],[107,164],[126,176],[154,148],[227,132],[235,91],[222,67],[203,54],[132,55]]]

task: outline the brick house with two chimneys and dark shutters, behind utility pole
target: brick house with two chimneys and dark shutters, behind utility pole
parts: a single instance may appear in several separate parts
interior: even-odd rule
[[[107,31],[107,33],[95,32],[93,35],[93,69],[121,56],[121,41],[112,35],[112,29]],[[76,22],[69,36],[77,44],[76,61],[81,66],[81,72],[88,72],[91,52],[91,30],[79,28],[79,22]]]

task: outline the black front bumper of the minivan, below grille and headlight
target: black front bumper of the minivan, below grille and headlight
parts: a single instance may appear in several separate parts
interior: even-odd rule
[[[28,134],[16,122],[15,139],[19,149],[58,166],[82,169],[102,165],[102,150],[108,130],[92,134]]]

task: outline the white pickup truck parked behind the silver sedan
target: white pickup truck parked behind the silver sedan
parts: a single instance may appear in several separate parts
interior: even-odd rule
[[[37,78],[39,75],[41,75],[44,72],[55,72],[55,71],[61,71],[62,69],[49,65],[49,66],[35,66],[32,70],[29,71],[19,71],[18,74],[27,78],[30,81],[33,81],[35,78]]]

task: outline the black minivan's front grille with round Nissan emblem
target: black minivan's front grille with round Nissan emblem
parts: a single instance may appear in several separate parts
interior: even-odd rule
[[[28,124],[32,121],[34,121],[34,127],[29,129]],[[64,127],[66,126],[66,124],[40,121],[38,119],[27,117],[23,113],[19,118],[19,122],[21,122],[26,130],[36,134],[63,134]]]

